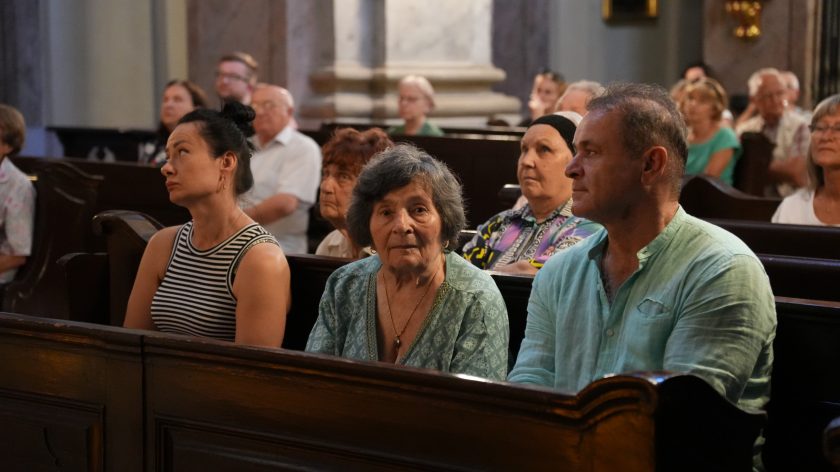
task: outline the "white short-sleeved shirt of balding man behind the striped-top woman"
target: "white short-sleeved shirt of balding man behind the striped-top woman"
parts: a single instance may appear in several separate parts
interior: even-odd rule
[[[262,148],[256,138],[254,144],[258,148],[251,157],[254,187],[240,197],[239,204],[249,208],[278,193],[297,197],[294,212],[263,227],[277,238],[287,254],[305,254],[309,208],[315,203],[321,183],[321,149],[312,138],[291,126]]]

